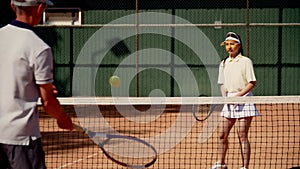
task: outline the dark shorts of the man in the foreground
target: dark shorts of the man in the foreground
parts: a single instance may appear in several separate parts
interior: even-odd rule
[[[0,166],[3,169],[46,169],[41,139],[28,146],[0,143]]]

